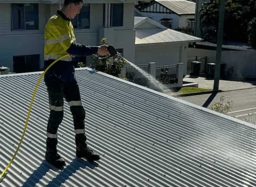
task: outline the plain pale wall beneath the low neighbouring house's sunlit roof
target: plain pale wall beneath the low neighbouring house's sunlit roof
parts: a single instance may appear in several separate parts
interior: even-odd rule
[[[156,66],[184,63],[187,67],[188,44],[135,45],[135,64],[155,62]],[[186,68],[185,68],[186,69]],[[183,72],[186,75],[187,70]]]

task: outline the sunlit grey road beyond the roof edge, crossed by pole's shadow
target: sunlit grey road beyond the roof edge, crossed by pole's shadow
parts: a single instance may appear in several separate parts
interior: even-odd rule
[[[227,91],[227,92],[219,92],[216,96],[211,96],[211,94],[201,94],[201,95],[193,95],[193,96],[184,96],[180,97],[185,101],[194,103],[199,106],[203,106],[206,101],[209,108],[215,102],[220,101],[220,94],[225,97],[224,103],[227,101],[233,102],[233,107],[231,108],[231,112],[236,112],[236,115],[241,115],[244,113],[244,109],[256,108],[256,88],[242,89],[236,91]],[[248,111],[247,111],[248,112]],[[256,112],[256,109],[255,109]]]

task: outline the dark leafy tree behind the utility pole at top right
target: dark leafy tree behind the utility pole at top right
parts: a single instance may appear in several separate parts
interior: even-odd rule
[[[248,42],[248,23],[254,18],[256,0],[226,0],[223,39]],[[203,3],[200,9],[200,27],[203,38],[216,39],[220,0]]]

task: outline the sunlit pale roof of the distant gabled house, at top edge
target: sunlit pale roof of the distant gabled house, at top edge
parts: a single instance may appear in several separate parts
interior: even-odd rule
[[[186,0],[155,0],[178,15],[195,14],[196,3]]]

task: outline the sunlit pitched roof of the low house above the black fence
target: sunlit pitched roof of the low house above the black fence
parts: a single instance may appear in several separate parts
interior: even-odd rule
[[[201,38],[168,29],[148,17],[134,17],[135,44],[200,42]]]

